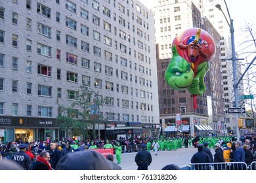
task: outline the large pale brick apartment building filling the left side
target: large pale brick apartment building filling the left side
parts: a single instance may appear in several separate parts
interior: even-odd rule
[[[81,84],[110,101],[101,138],[158,135],[153,24],[139,0],[0,1],[0,141],[72,137],[56,101],[70,106]]]

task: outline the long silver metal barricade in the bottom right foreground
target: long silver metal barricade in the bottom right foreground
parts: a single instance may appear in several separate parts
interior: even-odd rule
[[[188,170],[247,170],[245,162],[223,163],[190,163],[186,165]]]

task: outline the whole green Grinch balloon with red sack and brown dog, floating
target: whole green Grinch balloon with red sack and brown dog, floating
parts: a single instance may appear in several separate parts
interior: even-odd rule
[[[196,98],[205,92],[203,77],[209,69],[209,60],[215,55],[215,43],[202,29],[186,29],[173,40],[173,58],[165,71],[166,83],[175,90],[188,89]]]

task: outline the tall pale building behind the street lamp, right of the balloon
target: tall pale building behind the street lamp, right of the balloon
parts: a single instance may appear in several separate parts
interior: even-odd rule
[[[219,31],[221,35],[221,67],[223,73],[223,93],[224,93],[224,110],[225,118],[224,122],[221,122],[221,131],[225,133],[236,132],[236,116],[235,114],[228,114],[228,108],[234,107],[234,79],[233,79],[233,68],[232,68],[232,50],[231,50],[231,39],[230,39],[230,27],[227,24],[223,13],[215,7],[215,5],[221,5],[226,18],[228,18],[228,13],[226,12],[226,5],[223,0],[192,0],[198,7],[200,12],[202,12],[203,17],[207,17],[209,21],[214,25],[215,29]],[[232,15],[231,15],[232,16]],[[228,19],[229,20],[229,19]],[[238,57],[238,56],[236,56]],[[236,61],[237,65],[237,78],[242,75],[241,63]],[[241,82],[238,85],[238,93],[242,95],[244,93],[244,86]],[[244,107],[242,103],[239,103],[239,107]],[[215,127],[217,125],[215,124]],[[215,128],[215,130],[219,130]]]

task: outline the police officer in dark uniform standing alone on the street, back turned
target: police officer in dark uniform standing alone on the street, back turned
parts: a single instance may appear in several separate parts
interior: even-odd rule
[[[152,156],[150,152],[146,150],[146,144],[141,144],[140,146],[142,149],[137,152],[135,156],[135,162],[138,165],[137,170],[147,170],[148,166],[152,162]]]

